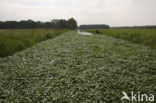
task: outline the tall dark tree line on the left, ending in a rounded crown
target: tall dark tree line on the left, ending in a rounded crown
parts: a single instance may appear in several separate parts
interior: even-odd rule
[[[33,20],[22,21],[0,21],[0,29],[32,29],[32,28],[53,28],[53,29],[76,29],[77,21],[74,18],[68,20],[54,19],[50,22]]]

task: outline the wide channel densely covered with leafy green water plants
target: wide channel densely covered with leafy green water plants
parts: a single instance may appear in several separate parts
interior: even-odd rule
[[[156,51],[107,35],[70,31],[0,58],[2,103],[121,103],[154,94]]]

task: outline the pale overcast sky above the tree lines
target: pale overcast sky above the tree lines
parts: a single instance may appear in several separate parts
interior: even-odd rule
[[[79,25],[156,25],[156,0],[0,0],[0,21],[71,17]]]

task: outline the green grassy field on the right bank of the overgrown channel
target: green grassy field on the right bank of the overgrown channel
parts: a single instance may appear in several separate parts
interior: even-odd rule
[[[96,29],[87,31],[96,33]],[[101,34],[128,40],[134,43],[141,43],[156,48],[156,30],[152,29],[99,29]]]

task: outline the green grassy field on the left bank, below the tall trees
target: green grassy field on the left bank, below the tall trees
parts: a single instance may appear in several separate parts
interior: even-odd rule
[[[0,30],[0,57],[12,55],[41,41],[58,36],[67,30],[12,29]]]

